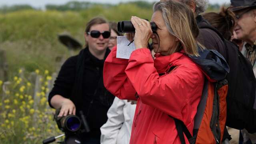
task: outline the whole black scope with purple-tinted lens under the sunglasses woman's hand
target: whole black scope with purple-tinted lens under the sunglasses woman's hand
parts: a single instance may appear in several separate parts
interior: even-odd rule
[[[60,113],[60,109],[56,110],[54,115],[54,120],[56,121],[58,128],[62,130],[62,132],[65,132],[66,134],[90,132],[88,122],[82,111],[79,112],[81,118],[79,118],[76,115],[67,115],[67,116],[58,117],[59,113]],[[82,127],[84,129],[82,129]]]

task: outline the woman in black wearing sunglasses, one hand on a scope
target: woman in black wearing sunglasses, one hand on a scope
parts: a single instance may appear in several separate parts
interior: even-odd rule
[[[82,144],[100,144],[100,127],[107,121],[107,111],[114,96],[103,85],[104,60],[110,53],[110,27],[103,18],[93,18],[86,25],[86,48],[66,60],[49,94],[49,104],[59,109],[58,116],[86,116],[90,132],[79,134]]]

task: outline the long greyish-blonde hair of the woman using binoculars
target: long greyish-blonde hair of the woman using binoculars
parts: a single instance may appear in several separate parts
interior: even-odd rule
[[[174,48],[172,53],[178,52],[183,48],[186,54],[199,56],[198,45],[201,48],[203,46],[196,41],[199,29],[194,14],[188,6],[168,0],[154,4],[153,10],[154,12],[162,12],[168,31],[180,40],[179,46]]]

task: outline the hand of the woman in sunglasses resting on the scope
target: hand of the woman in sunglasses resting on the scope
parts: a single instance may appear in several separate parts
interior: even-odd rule
[[[66,116],[69,114],[73,114],[76,115],[76,106],[74,105],[74,103],[66,98],[61,105],[61,109],[60,109],[60,113],[58,116]]]

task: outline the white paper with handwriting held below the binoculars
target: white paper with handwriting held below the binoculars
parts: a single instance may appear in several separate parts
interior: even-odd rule
[[[129,46],[130,41],[126,38],[126,36],[117,36],[117,50],[116,50],[116,58],[124,58],[129,59],[130,55],[134,50],[136,50],[134,42],[132,42]]]

